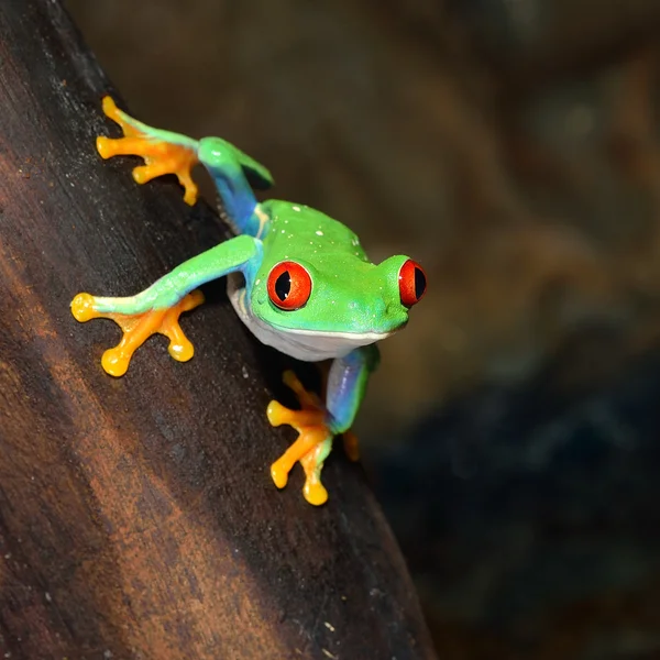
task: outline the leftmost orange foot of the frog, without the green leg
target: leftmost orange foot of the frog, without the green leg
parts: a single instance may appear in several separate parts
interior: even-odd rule
[[[143,314],[127,315],[100,312],[95,309],[95,296],[78,294],[72,302],[72,312],[81,323],[90,319],[112,319],[123,331],[123,337],[113,349],[108,349],[101,358],[103,370],[111,376],[123,376],[129,369],[133,353],[156,332],[169,339],[167,350],[179,362],[186,362],[195,352],[193,344],[179,326],[179,316],[204,302],[204,294],[194,290],[173,307],[153,309]]]

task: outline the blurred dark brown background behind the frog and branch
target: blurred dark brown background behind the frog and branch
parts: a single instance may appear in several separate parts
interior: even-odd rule
[[[134,116],[425,265],[358,431],[440,657],[660,658],[660,2],[66,4]]]

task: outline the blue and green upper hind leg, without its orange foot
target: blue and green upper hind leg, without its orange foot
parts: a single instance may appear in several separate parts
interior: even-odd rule
[[[271,173],[220,138],[200,140],[197,156],[211,175],[234,231],[263,239],[270,218],[250,182],[256,188],[267,188],[273,185]]]

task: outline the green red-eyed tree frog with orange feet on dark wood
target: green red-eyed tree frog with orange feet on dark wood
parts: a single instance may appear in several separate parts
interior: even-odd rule
[[[309,206],[258,201],[256,193],[274,185],[270,170],[226,140],[196,140],[150,127],[120,110],[111,96],[101,106],[122,131],[119,138],[97,136],[102,158],[140,156],[143,164],[132,176],[141,185],[175,175],[190,206],[199,196],[191,169],[201,164],[234,235],[133,296],[78,294],[70,304],[74,318],[111,319],[121,328],[121,341],[101,358],[111,376],[125,374],[135,350],[155,333],[169,340],[172,358],[186,362],[194,346],[179,317],[204,302],[201,285],[227,276],[229,300],[258,341],[296,360],[324,365],[320,395],[287,370],[284,382],[299,409],[277,400],[266,408],[273,427],[288,425],[298,433],[271,465],[275,486],[284,488],[299,463],[305,499],[324,504],[321,470],[333,439],[341,436],[349,458],[359,460],[351,428],[380,362],[377,343],[407,324],[410,309],[426,294],[424,268],[407,255],[372,263],[352,230]]]

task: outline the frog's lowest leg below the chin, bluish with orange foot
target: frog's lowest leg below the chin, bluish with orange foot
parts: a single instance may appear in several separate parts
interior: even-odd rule
[[[328,492],[321,483],[323,462],[332,449],[334,436],[340,433],[345,435],[349,457],[353,460],[358,458],[356,440],[349,429],[364,397],[369,375],[377,361],[375,345],[355,349],[344,358],[334,360],[328,374],[324,405],[316,394],[302,387],[293,372],[284,374],[284,381],[297,395],[301,409],[290,410],[277,402],[271,402],[266,411],[273,426],[286,424],[298,431],[298,439],[271,466],[271,475],[278,488],[286,486],[289,472],[299,462],[305,471],[305,499],[315,505],[328,499]]]

